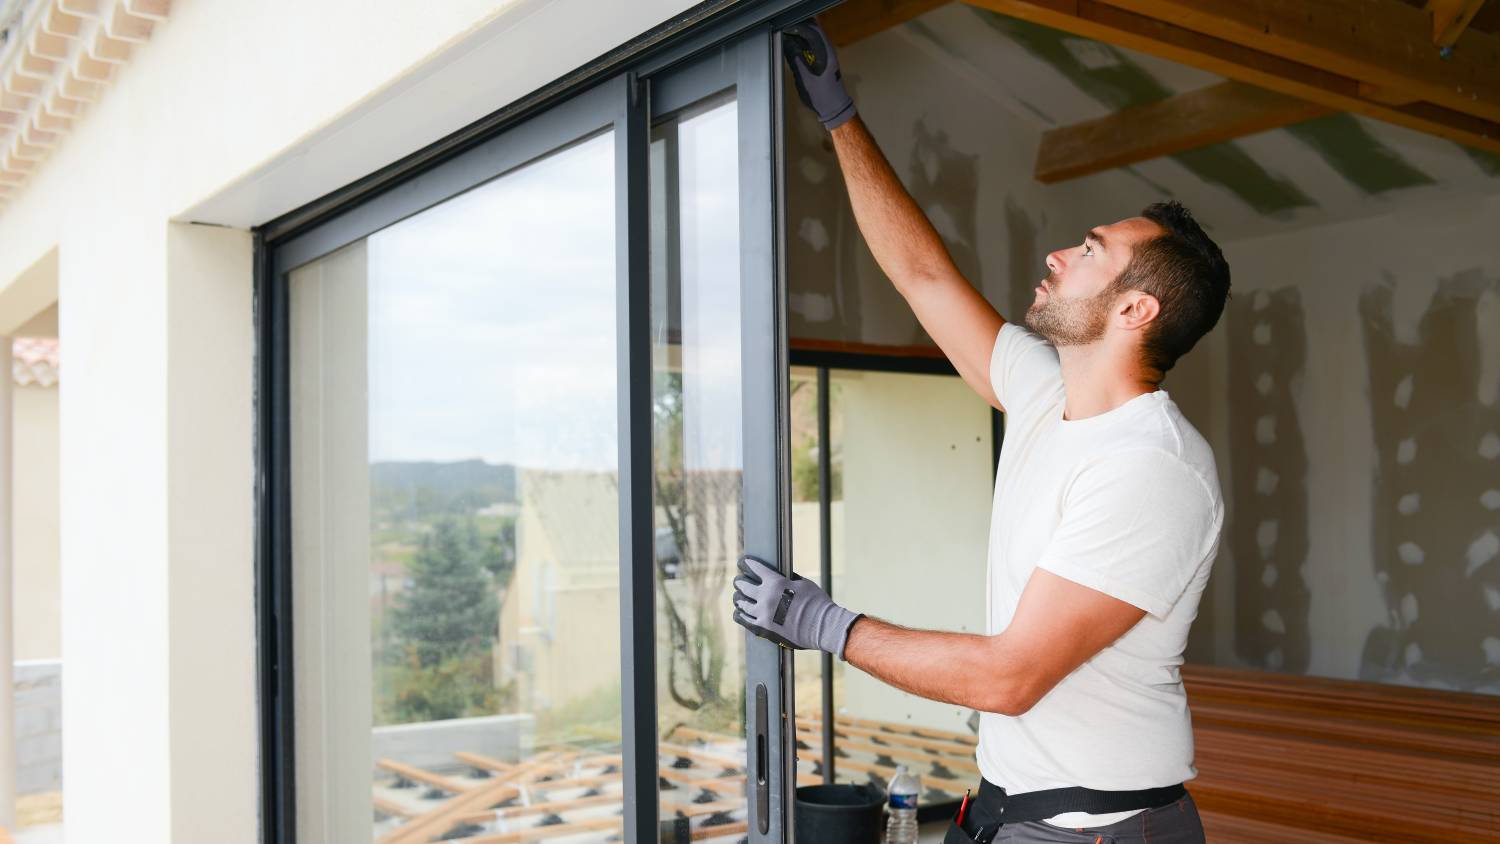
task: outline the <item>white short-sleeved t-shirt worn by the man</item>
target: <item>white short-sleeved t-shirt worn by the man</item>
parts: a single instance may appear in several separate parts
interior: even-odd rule
[[[1120,792],[1197,777],[1178,667],[1224,523],[1212,451],[1162,390],[1064,420],[1058,351],[1018,325],[994,340],[990,384],[1005,408],[1005,442],[990,520],[988,633],[1010,627],[1036,567],[1148,615],[1029,712],[982,712],[980,772],[1006,793]],[[1106,826],[1132,814],[1048,822]]]

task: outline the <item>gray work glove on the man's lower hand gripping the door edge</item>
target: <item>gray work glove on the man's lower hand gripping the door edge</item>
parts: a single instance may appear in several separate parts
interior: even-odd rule
[[[849,628],[861,613],[832,601],[818,583],[771,568],[753,556],[740,558],[735,577],[735,621],[760,639],[798,651],[819,649],[843,660]]]

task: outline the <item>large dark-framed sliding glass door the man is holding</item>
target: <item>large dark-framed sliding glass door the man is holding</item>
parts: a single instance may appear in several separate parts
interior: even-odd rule
[[[774,37],[267,243],[268,840],[788,840]]]

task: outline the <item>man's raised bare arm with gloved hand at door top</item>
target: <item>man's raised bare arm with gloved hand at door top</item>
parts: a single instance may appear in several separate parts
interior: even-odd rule
[[[855,220],[876,262],[964,382],[1000,408],[990,387],[990,354],[1005,319],[954,265],[938,229],[855,114],[822,30],[807,22],[789,27],[786,36],[796,93],[832,133]]]

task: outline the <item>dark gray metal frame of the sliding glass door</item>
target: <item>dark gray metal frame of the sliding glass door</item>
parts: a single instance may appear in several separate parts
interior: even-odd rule
[[[836,0],[711,1],[602,60],[340,190],[255,229],[256,639],[261,840],[296,841],[288,274],[381,228],[603,130],[616,138],[616,319],[621,496],[621,669],[626,840],[654,843],[656,657],[651,543],[650,217],[652,85],[663,106],[718,84],[699,57],[734,55],[740,99],[746,550],[790,567],[780,25]],[[726,46],[734,42],[732,48]],[[693,61],[699,58],[698,61]],[[750,213],[746,213],[750,210]],[[747,634],[750,841],[794,837],[792,660]],[[650,799],[642,799],[646,796]]]

